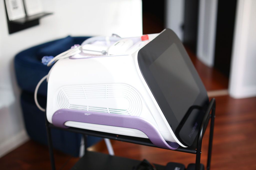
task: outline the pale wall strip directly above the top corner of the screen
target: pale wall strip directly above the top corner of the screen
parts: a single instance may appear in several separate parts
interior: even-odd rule
[[[166,1],[166,27],[172,29],[179,39],[183,41],[185,0],[167,0]]]

